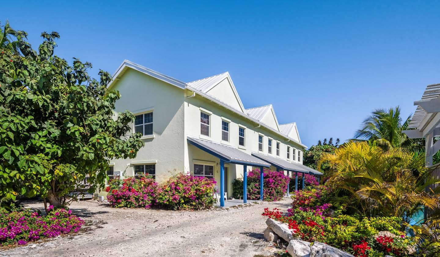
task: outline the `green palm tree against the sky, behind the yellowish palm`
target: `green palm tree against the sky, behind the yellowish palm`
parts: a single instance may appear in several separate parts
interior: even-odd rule
[[[395,147],[410,146],[413,141],[402,130],[406,130],[411,121],[411,115],[403,121],[400,117],[400,108],[376,109],[371,116],[362,123],[357,130],[353,141],[376,141],[385,150]]]

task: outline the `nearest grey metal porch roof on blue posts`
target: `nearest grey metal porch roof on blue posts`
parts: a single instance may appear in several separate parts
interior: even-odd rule
[[[203,151],[208,152],[209,154],[212,154],[219,159],[223,159],[227,163],[253,165],[257,167],[271,166],[269,163],[231,146],[190,136],[187,136],[187,141],[191,145],[194,145],[197,148],[202,149]]]

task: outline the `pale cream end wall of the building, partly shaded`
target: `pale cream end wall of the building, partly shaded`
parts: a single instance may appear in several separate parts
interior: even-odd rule
[[[184,170],[184,91],[181,88],[127,69],[112,89],[119,90],[115,111],[129,110],[135,115],[153,111],[154,138],[145,138],[145,145],[135,159],[111,160],[114,171],[133,176],[133,164],[156,163],[156,181],[168,179]],[[133,124],[130,124],[133,128]]]

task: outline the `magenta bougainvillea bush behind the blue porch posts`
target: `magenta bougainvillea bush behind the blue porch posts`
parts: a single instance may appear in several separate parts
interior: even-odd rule
[[[278,201],[286,194],[289,177],[283,172],[263,169],[263,200]],[[234,198],[243,198],[243,180],[236,179],[232,185]],[[260,169],[253,169],[247,174],[247,199],[260,199]]]

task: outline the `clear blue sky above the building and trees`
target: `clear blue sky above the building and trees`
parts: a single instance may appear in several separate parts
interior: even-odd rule
[[[9,1],[2,10],[33,47],[42,31],[59,32],[56,54],[92,62],[93,76],[124,59],[186,82],[229,71],[246,108],[273,104],[308,146],[351,138],[375,108],[408,116],[440,83],[438,1]]]

